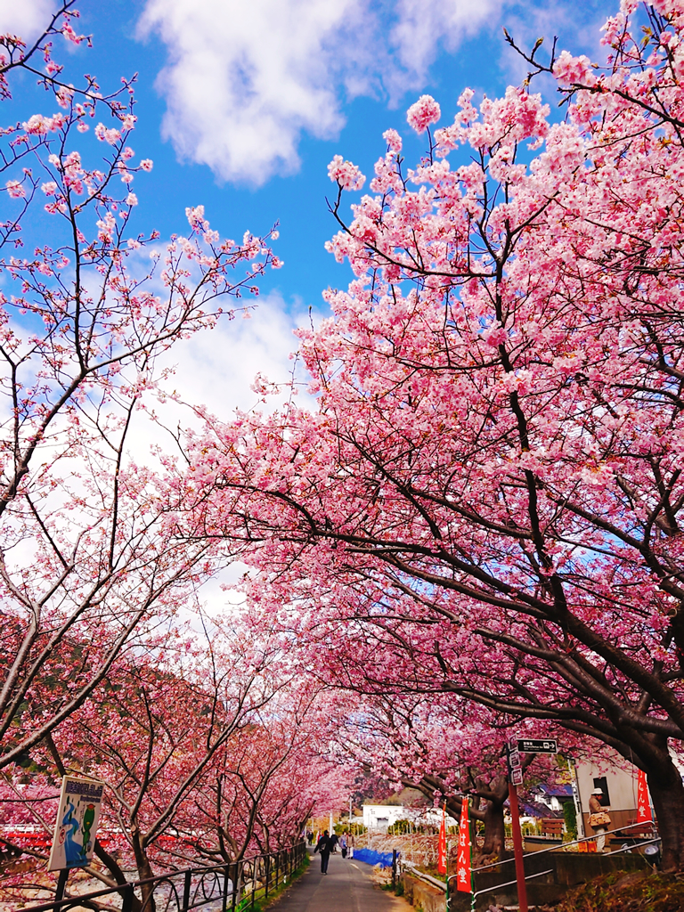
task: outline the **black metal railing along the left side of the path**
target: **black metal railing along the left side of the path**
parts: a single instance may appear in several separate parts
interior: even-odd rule
[[[26,912],[69,909],[120,912],[244,912],[295,874],[306,856],[304,842],[292,848],[254,855],[231,865],[189,868],[90,893],[71,893],[49,902],[23,906]]]

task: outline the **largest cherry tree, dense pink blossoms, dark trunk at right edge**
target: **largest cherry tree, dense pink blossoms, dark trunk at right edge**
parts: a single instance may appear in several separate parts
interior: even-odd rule
[[[645,36],[638,33],[640,25]],[[553,73],[451,126],[409,109],[370,193],[341,157],[332,316],[300,332],[317,397],[189,441],[189,523],[242,545],[264,614],[352,621],[494,712],[551,720],[648,774],[684,865],[681,198],[684,18],[623,0],[599,66]]]

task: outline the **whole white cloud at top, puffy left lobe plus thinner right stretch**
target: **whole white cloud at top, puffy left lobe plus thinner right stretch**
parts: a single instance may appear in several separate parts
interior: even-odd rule
[[[295,171],[306,131],[337,135],[343,94],[420,88],[506,0],[148,0],[140,36],[168,49],[163,132],[181,159],[230,181]]]

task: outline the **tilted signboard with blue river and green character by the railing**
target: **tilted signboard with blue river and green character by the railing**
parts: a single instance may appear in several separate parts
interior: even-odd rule
[[[90,863],[98,832],[104,782],[64,776],[48,871],[85,867]]]

